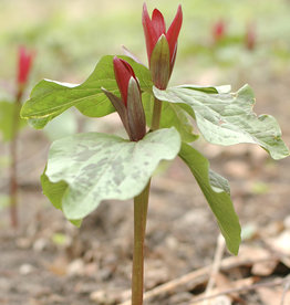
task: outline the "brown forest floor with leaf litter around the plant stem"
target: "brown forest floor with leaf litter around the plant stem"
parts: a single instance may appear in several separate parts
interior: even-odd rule
[[[265,91],[267,81],[255,82],[255,111],[278,118],[289,146],[290,80],[273,77]],[[205,296],[211,270],[205,266],[213,264],[219,230],[189,170],[175,160],[153,179],[145,257],[152,294],[145,304],[290,304],[290,159],[272,161],[251,145],[196,145],[229,180],[244,229],[239,255],[225,251],[210,292],[231,293],[197,301]],[[48,147],[42,133],[22,133],[19,229],[10,228],[8,209],[0,214],[0,304],[121,304],[130,298],[132,201],[103,202],[74,228],[41,193]],[[1,183],[7,190],[6,179]]]

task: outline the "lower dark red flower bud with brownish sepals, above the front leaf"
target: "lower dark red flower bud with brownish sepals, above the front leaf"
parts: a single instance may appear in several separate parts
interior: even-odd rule
[[[114,105],[131,140],[139,140],[146,134],[146,120],[142,105],[138,80],[132,66],[124,60],[113,60],[115,78],[121,97],[103,88],[103,92]]]

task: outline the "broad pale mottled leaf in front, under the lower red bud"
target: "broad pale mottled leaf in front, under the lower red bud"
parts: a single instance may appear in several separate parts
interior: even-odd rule
[[[51,146],[43,192],[68,219],[82,219],[102,200],[141,193],[159,161],[174,159],[179,148],[175,128],[149,133],[139,141],[97,133],[66,137]]]

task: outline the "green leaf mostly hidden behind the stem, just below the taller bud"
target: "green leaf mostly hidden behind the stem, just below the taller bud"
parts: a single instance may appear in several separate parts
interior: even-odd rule
[[[148,93],[142,95],[143,106],[146,115],[147,125],[152,124],[152,114],[154,107],[154,98]],[[193,125],[190,123],[190,117],[188,116],[189,111],[184,108],[187,105],[178,105],[173,103],[163,103],[162,117],[160,117],[160,128],[175,127],[182,136],[182,139],[187,143],[191,143],[198,139],[198,135],[193,134]]]

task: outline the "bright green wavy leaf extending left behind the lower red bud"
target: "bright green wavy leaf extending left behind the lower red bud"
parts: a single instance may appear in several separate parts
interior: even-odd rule
[[[152,90],[151,73],[147,67],[125,59],[134,69],[143,91]],[[51,119],[68,108],[75,106],[90,117],[102,117],[115,111],[102,92],[102,87],[118,95],[114,76],[113,56],[103,56],[91,76],[81,85],[43,80],[32,90],[30,99],[23,105],[21,116],[30,119],[35,128],[43,128]]]

